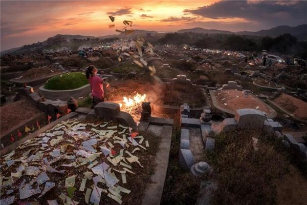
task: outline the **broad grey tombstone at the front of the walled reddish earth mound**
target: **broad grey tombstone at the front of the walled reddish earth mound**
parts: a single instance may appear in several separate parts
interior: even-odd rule
[[[239,109],[236,110],[234,119],[237,122],[238,129],[262,129],[267,117],[260,110]]]

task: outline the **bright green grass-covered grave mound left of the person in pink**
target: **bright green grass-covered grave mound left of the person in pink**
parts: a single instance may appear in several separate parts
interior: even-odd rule
[[[50,78],[44,88],[49,90],[72,90],[86,84],[89,84],[89,80],[86,79],[85,73],[74,72]]]

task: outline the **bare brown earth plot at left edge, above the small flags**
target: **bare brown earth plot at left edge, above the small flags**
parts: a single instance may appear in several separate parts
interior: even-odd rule
[[[17,125],[23,125],[29,119],[42,113],[28,100],[4,105],[0,108],[1,135]]]

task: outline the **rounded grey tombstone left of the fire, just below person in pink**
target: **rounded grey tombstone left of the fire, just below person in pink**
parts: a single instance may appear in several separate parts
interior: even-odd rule
[[[119,104],[111,102],[101,102],[94,109],[96,116],[105,120],[115,120],[116,115],[120,112]]]

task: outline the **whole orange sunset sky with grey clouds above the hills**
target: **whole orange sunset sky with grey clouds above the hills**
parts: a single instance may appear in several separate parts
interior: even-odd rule
[[[134,29],[170,32],[202,27],[257,31],[297,26],[307,19],[306,1],[2,1],[1,50],[56,34],[103,36],[131,20]],[[115,16],[115,28],[109,15]]]

